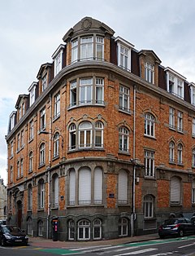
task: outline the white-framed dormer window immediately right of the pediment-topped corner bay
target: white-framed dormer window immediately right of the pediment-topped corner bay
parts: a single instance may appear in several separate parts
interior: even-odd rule
[[[117,42],[118,66],[131,71],[131,51],[134,46],[120,37],[115,38],[115,42]]]

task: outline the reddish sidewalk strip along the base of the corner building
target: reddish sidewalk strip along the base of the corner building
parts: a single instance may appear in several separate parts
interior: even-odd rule
[[[139,241],[149,241],[158,239],[158,234],[150,234],[145,236],[132,236],[132,237],[122,237],[112,240],[101,240],[101,241],[53,241],[52,239],[45,239],[41,237],[29,237],[29,245],[33,247],[41,248],[78,248],[78,247],[90,247],[98,245],[119,245],[127,244]]]

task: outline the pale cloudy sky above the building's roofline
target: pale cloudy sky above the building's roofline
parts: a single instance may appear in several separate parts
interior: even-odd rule
[[[7,179],[5,136],[20,94],[41,64],[85,16],[100,20],[138,51],[153,50],[164,67],[195,82],[195,1],[0,0],[0,177]]]

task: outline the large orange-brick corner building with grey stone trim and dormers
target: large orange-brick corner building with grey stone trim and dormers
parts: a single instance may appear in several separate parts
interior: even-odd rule
[[[85,17],[19,95],[8,218],[29,235],[113,239],[195,209],[195,84]]]

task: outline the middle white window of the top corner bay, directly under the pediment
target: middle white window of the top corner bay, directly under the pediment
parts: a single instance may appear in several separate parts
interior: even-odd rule
[[[80,60],[93,60],[93,37],[80,38]]]

